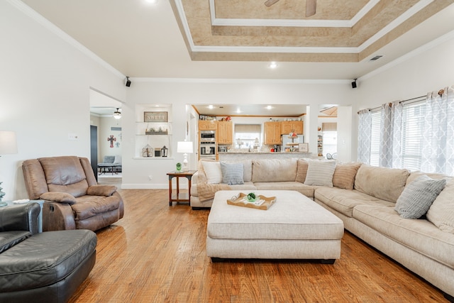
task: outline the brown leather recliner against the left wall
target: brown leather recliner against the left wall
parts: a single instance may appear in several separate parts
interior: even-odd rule
[[[28,197],[42,199],[43,231],[96,231],[123,218],[123,199],[114,185],[99,185],[87,158],[61,156],[22,164]]]

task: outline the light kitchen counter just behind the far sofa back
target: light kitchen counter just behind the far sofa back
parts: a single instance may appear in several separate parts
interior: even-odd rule
[[[314,158],[312,153],[300,152],[278,152],[273,153],[270,151],[229,151],[226,153],[218,153],[219,161],[236,161],[243,159],[283,159],[283,158]]]

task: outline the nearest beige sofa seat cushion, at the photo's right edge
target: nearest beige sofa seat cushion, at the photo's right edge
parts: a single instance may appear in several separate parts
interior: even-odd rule
[[[454,267],[454,235],[441,231],[428,220],[404,219],[393,206],[365,204],[353,209],[353,218],[428,258]]]

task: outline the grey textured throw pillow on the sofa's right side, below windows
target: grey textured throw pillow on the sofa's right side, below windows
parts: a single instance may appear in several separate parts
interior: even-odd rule
[[[418,219],[426,214],[445,184],[446,180],[435,180],[422,175],[404,188],[394,209],[402,218]]]

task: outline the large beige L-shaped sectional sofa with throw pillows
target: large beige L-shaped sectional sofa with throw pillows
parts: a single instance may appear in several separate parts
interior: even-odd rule
[[[231,167],[243,167],[243,170],[229,172]],[[243,180],[238,180],[240,173]],[[236,179],[229,180],[232,174]],[[432,187],[426,190],[435,201],[427,204],[428,211],[423,210],[425,215],[421,218],[405,219],[402,207],[410,203],[413,211],[422,188],[419,184],[427,183],[426,175],[431,178],[428,182],[437,183],[438,191]],[[228,185],[228,182],[243,184]],[[342,219],[345,229],[431,282],[453,302],[454,179],[450,177],[361,163],[296,158],[208,165],[199,162],[199,170],[192,179],[193,209],[210,207],[211,192],[220,189],[301,192]],[[419,204],[416,208],[420,208]]]

